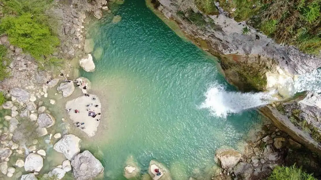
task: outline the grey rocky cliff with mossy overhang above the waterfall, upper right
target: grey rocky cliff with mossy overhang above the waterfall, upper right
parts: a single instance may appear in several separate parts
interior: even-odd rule
[[[265,73],[277,72],[279,67],[291,75],[321,67],[319,57],[277,44],[222,11],[219,15],[205,15],[193,0],[159,0],[155,7],[176,21],[186,36],[205,51],[220,57],[226,78],[240,90],[265,90]]]

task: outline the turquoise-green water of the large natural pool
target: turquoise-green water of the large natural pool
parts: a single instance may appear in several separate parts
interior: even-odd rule
[[[112,10],[122,19],[113,23],[109,14],[92,25],[94,54],[103,52],[94,59],[95,72],[81,72],[91,80],[105,109],[97,136],[85,147],[103,163],[104,179],[125,179],[123,169],[130,155],[142,173],[155,159],[175,180],[204,177],[215,165],[215,150],[238,148],[260,116],[254,110],[220,116],[213,113],[215,108],[202,108],[213,87],[219,86],[225,92],[222,96],[235,95],[235,88],[220,74],[217,59],[179,38],[143,0],[128,0]],[[224,97],[217,98],[221,100],[216,103],[214,97],[212,103],[229,109]],[[229,104],[239,106],[233,100]]]

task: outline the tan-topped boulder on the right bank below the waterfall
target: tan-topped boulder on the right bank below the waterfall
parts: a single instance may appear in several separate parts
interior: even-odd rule
[[[223,169],[233,168],[241,159],[242,154],[234,149],[219,149],[215,157],[220,161]]]

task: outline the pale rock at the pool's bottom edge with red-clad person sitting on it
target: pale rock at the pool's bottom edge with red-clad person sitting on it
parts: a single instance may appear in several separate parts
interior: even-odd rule
[[[157,176],[155,174],[155,171],[154,171],[155,168],[158,168],[159,171],[161,172],[160,176]],[[148,174],[152,177],[153,180],[157,180],[157,179],[172,180],[169,170],[166,168],[166,166],[155,160],[151,160],[149,162]]]

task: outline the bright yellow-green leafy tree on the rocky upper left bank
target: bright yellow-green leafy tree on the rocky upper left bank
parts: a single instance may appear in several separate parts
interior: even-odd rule
[[[38,60],[53,53],[60,43],[49,27],[37,22],[30,13],[19,17],[5,16],[0,27],[6,30],[10,43],[28,51]]]

